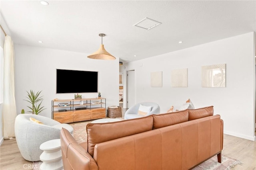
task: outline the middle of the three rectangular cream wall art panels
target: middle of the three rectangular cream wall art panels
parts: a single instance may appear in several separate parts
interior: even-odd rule
[[[188,87],[188,68],[172,70],[172,87]]]

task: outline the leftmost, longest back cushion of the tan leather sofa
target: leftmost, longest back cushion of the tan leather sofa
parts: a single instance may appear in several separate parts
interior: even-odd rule
[[[86,126],[88,153],[93,156],[97,143],[152,130],[152,115],[109,123],[88,123]]]

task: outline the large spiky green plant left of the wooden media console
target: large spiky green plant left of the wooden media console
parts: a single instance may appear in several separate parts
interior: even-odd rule
[[[27,106],[28,108],[31,109],[31,111],[28,111],[32,114],[39,114],[41,111],[43,111],[44,106],[41,107],[42,101],[44,100],[42,97],[43,96],[39,96],[41,91],[38,92],[34,92],[33,90],[30,90],[30,92],[26,91],[28,93],[28,96],[26,98],[28,98],[28,100],[25,100],[27,102],[29,102],[31,104],[31,106]]]

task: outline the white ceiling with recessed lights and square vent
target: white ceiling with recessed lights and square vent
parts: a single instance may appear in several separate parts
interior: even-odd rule
[[[136,61],[256,31],[256,1],[1,0],[2,18],[16,44],[95,52]],[[144,18],[162,24],[133,26]],[[44,41],[44,43],[38,43]],[[178,43],[183,41],[183,43]],[[134,57],[136,55],[136,57]]]

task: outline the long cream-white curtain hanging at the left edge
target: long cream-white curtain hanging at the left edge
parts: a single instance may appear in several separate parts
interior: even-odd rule
[[[6,35],[4,40],[4,139],[15,137],[14,122],[17,114],[14,94],[14,47],[11,37]]]

